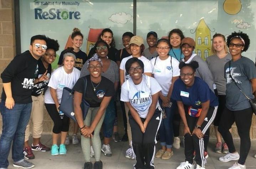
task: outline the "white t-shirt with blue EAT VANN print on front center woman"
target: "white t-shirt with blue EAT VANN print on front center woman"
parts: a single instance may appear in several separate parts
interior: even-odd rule
[[[152,77],[143,75],[140,84],[135,85],[132,78],[124,82],[121,89],[121,101],[130,102],[133,108],[138,112],[139,116],[146,118],[148,110],[152,104],[152,95],[161,91],[160,85]],[[159,104],[157,104],[157,107]],[[157,109],[156,107],[156,109]]]

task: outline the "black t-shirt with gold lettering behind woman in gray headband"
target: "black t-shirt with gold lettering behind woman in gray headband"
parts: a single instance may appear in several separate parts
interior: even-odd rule
[[[73,51],[74,52],[74,51]],[[85,64],[86,60],[87,60],[87,54],[83,51],[79,51],[79,52],[74,52],[76,55],[76,64],[75,64],[75,68],[81,70],[83,67],[83,64]],[[59,61],[58,61],[58,65],[61,65],[63,62],[63,51],[61,52]]]

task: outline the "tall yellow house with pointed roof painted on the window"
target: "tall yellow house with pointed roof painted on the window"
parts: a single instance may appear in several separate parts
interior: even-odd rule
[[[211,56],[211,31],[204,19],[201,19],[195,31],[195,53],[203,60]]]

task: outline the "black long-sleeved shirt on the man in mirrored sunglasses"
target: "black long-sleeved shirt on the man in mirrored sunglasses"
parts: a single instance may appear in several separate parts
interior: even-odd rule
[[[11,82],[12,98],[17,104],[31,103],[38,60],[29,51],[18,54],[1,74],[2,82]],[[6,100],[4,89],[2,100]]]

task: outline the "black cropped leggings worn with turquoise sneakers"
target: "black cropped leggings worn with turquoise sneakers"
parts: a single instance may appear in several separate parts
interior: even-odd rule
[[[54,126],[52,129],[52,132],[55,134],[58,134],[60,132],[68,132],[69,123],[68,123],[68,117],[64,115],[63,119],[60,118],[60,115],[56,109],[55,104],[47,104],[45,103],[46,110],[48,111],[48,114],[50,115]]]

